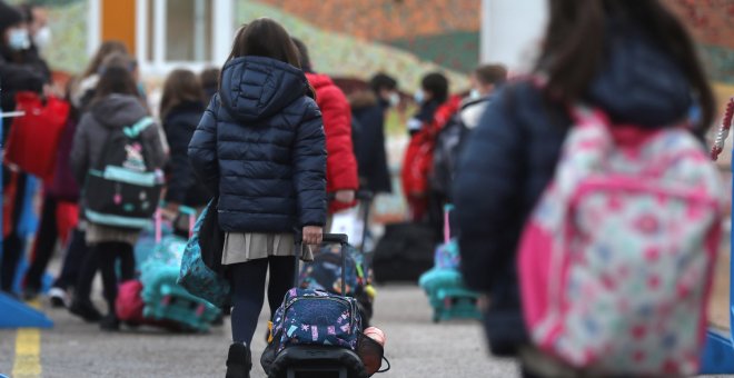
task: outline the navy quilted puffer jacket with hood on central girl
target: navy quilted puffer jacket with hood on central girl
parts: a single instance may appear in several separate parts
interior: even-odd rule
[[[304,73],[244,57],[222,69],[221,88],[189,145],[195,171],[219,193],[227,232],[290,232],[326,222],[321,113]]]

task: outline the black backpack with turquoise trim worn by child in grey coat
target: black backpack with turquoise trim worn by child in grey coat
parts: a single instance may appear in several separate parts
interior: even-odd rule
[[[85,216],[93,223],[143,229],[156,212],[163,175],[151,167],[141,133],[149,117],[110,131],[102,155],[89,169],[85,185]]]

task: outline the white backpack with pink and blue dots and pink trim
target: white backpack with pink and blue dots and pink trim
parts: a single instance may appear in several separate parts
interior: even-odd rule
[[[533,342],[594,375],[698,369],[724,189],[684,127],[611,127],[575,107],[518,250]]]

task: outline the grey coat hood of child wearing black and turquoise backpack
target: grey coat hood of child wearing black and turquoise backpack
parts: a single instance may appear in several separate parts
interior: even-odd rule
[[[129,94],[110,94],[93,102],[90,111],[97,122],[108,128],[132,126],[148,116],[140,98]]]

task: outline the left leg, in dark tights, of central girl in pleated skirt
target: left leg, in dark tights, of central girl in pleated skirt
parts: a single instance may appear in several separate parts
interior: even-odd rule
[[[249,346],[265,300],[268,259],[234,263],[227,268],[232,284],[232,341]]]

